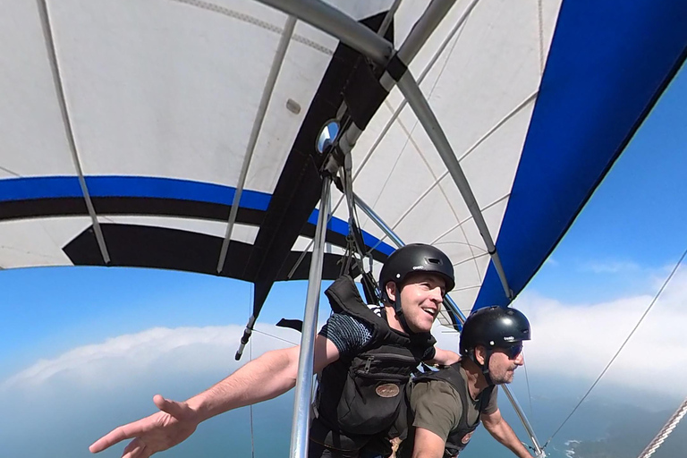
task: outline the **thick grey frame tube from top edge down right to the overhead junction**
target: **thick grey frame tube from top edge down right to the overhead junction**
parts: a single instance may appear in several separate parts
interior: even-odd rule
[[[394,54],[394,45],[373,30],[352,19],[335,7],[319,0],[258,0],[283,13],[308,22],[311,26],[340,39],[346,45],[367,55],[377,64],[386,64]]]

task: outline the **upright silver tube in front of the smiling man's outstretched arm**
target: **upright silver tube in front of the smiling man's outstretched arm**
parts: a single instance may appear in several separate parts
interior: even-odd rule
[[[293,402],[293,424],[291,428],[291,458],[308,456],[308,428],[310,427],[310,396],[314,362],[315,331],[318,323],[319,290],[322,284],[325,234],[327,233],[327,211],[332,180],[328,176],[322,182],[322,198],[319,204],[318,227],[315,230],[315,244],[310,259],[308,296],[303,315],[301,352],[298,360],[296,395]]]

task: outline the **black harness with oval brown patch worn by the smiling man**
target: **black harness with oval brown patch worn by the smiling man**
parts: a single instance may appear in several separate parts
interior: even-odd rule
[[[394,425],[405,401],[411,374],[429,347],[429,333],[406,335],[369,310],[350,276],[339,277],[327,291],[335,313],[345,313],[372,328],[369,343],[352,357],[323,369],[315,402],[318,420],[353,435],[375,435]]]

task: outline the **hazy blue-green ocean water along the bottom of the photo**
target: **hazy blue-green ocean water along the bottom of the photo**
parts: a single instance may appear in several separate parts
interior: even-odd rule
[[[198,386],[207,386],[205,381]],[[194,386],[195,388],[195,386]],[[0,457],[7,458],[93,458],[88,446],[111,428],[137,420],[155,410],[151,402],[157,391],[140,386],[140,393],[89,395],[63,392],[40,398],[1,399]],[[179,393],[165,393],[182,398]],[[522,401],[522,399],[521,399]],[[574,399],[535,399],[527,409],[530,421],[546,442],[569,413]],[[499,405],[505,419],[524,439],[524,430],[504,398]],[[675,404],[676,407],[676,404]],[[293,411],[293,393],[284,394],[252,409],[242,408],[208,420],[181,445],[159,458],[220,458],[288,456]],[[649,411],[621,402],[590,399],[547,446],[552,458],[632,458],[649,443],[672,411]],[[98,454],[100,458],[119,458],[125,443]],[[687,450],[687,424],[680,425],[653,458],[683,458]],[[480,427],[462,458],[511,458],[513,454]]]

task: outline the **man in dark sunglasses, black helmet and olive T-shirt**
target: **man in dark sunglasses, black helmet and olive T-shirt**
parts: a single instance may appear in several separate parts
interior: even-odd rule
[[[522,312],[489,307],[472,313],[462,329],[462,360],[413,379],[412,426],[400,456],[454,457],[468,445],[481,420],[513,454],[529,458],[496,405],[497,386],[511,383],[523,363],[525,340],[530,340],[530,323]]]

